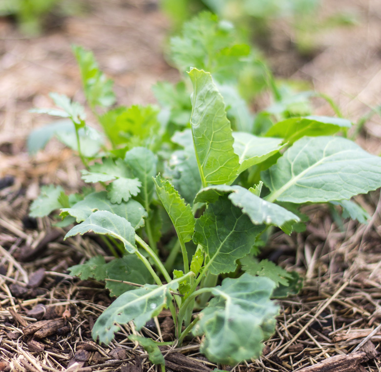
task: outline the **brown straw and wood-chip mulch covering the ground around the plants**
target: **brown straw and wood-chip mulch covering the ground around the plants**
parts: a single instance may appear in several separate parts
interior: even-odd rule
[[[70,44],[94,51],[115,80],[121,105],[154,102],[152,84],[178,79],[162,55],[169,26],[154,2],[93,0],[89,6],[84,15],[31,40],[9,20],[0,20],[0,371],[157,369],[127,340],[136,332],[133,324],[122,327],[108,346],[91,338],[95,320],[112,299],[104,284],[73,278],[67,268],[101,253],[98,242],[92,237],[63,241],[64,231],[49,219],[28,218],[42,184],[60,184],[69,192],[81,185],[80,164],[71,151],[53,142],[29,157],[25,145],[28,133],[48,122],[28,109],[51,106],[50,91],[84,102]],[[315,35],[312,57],[301,61],[295,50],[282,46],[292,36],[287,27],[274,31],[267,53],[278,76],[308,80],[356,122],[379,104],[381,3],[326,0],[321,17],[343,9],[355,11],[358,23]],[[318,114],[333,114],[325,102],[315,104]],[[89,122],[94,124],[91,115]],[[360,131],[358,142],[371,153],[381,152],[380,128],[375,116]],[[262,356],[233,371],[380,371],[380,193],[358,201],[372,216],[367,225],[337,225],[327,209],[309,206],[305,212],[312,222],[306,232],[274,235],[263,257],[298,271],[305,284],[297,296],[279,301],[276,331]],[[164,311],[143,332],[171,340],[168,315]],[[232,370],[206,360],[200,341],[163,349],[167,370]]]

